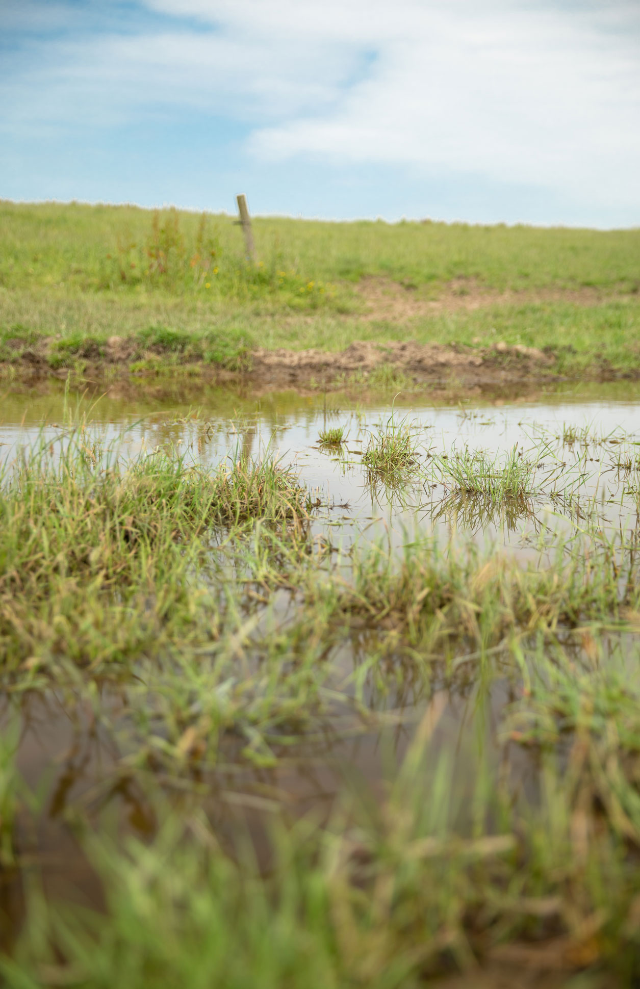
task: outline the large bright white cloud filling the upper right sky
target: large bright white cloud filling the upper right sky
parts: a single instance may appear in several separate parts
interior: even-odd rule
[[[375,52],[332,99],[258,128],[296,154],[480,173],[640,204],[640,10],[506,0],[149,0],[284,54]],[[320,57],[319,57],[320,53]],[[331,80],[332,81],[332,80]],[[334,82],[334,85],[336,83]],[[325,108],[323,102],[328,106]]]

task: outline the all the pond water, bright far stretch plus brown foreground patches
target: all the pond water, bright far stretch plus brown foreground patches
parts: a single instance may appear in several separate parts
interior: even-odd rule
[[[609,533],[624,541],[638,524],[638,386],[565,387],[533,399],[465,399],[457,405],[435,405],[426,396],[401,395],[392,405],[337,394],[254,399],[220,389],[136,394],[114,386],[101,395],[43,386],[36,392],[6,389],[1,408],[0,453],[8,472],[38,442],[50,445],[54,456],[71,423],[80,421],[92,442],[114,446],[125,458],[161,447],[215,466],[228,457],[259,458],[269,451],[295,469],[318,503],[312,531],[329,550],[347,552],[353,543],[384,539],[400,552],[421,533],[442,545],[473,541],[482,550],[514,555],[522,566],[547,567],[588,525],[605,538]],[[363,465],[370,443],[390,428],[406,430],[414,451],[412,469],[391,481]],[[343,442],[322,446],[320,434],[327,429],[341,429]],[[515,451],[529,465],[528,489],[491,503],[460,491],[447,461],[465,451],[472,456],[484,451],[490,474]],[[296,607],[295,597],[285,597],[283,614]],[[327,690],[352,697],[354,667],[369,648],[363,642],[356,655],[349,641],[334,650],[335,673]],[[604,653],[637,678],[635,640],[611,632]],[[384,690],[375,676],[365,677],[358,703],[336,708],[321,730],[315,725],[301,732],[296,747],[290,740],[274,741],[273,764],[247,764],[241,758],[243,740],[231,733],[218,764],[185,768],[182,785],[176,778],[166,780],[167,799],[177,806],[196,799],[229,843],[241,820],[259,848],[265,815],[284,808],[290,817],[314,813],[326,820],[336,794],[354,775],[374,792],[384,789],[415,724],[431,715],[433,752],[454,753],[462,790],[482,753],[495,766],[507,765],[520,790],[535,799],[537,755],[513,746],[499,730],[519,686],[512,665],[505,662],[501,670],[500,651],[494,660],[490,674],[479,674],[462,657],[455,674],[449,665],[441,675],[434,672],[428,684],[401,672]],[[3,697],[4,733],[17,732],[18,767],[38,805],[37,824],[26,824],[19,836],[21,861],[23,868],[31,861],[42,870],[52,895],[98,896],[74,837],[78,815],[95,823],[107,811],[114,828],[154,833],[157,809],[146,786],[151,777],[162,785],[163,770],[135,767],[132,703],[127,688],[115,683],[105,684],[91,703],[81,690],[74,700],[72,688],[24,696],[11,689]],[[3,875],[5,916],[19,917],[18,872]]]

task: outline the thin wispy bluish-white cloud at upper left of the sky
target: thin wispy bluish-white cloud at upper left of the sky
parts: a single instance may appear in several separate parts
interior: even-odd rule
[[[290,120],[335,100],[358,60],[340,45],[315,46],[310,57],[259,32],[170,25],[69,32],[25,47],[0,81],[2,117],[23,129],[113,126],[176,106],[238,122]]]

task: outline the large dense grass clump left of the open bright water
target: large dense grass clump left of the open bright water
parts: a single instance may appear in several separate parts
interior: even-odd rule
[[[36,444],[0,478],[4,670],[58,657],[101,669],[161,643],[186,649],[186,625],[209,641],[221,598],[197,575],[221,566],[214,535],[229,542],[259,521],[256,569],[268,572],[276,536],[304,542],[308,501],[269,456],[211,472],[158,451],[125,462],[82,429]]]

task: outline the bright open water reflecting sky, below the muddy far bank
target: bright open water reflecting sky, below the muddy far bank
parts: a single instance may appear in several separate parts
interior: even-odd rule
[[[54,443],[69,422],[85,418],[102,446],[118,445],[124,456],[161,447],[187,462],[215,465],[221,459],[259,459],[268,451],[292,466],[320,498],[323,511],[316,530],[332,539],[350,541],[364,532],[370,539],[383,532],[405,538],[416,528],[448,538],[457,531],[465,542],[528,548],[530,556],[536,535],[542,532],[542,543],[548,545],[545,532],[570,532],[586,506],[596,506],[608,525],[634,524],[632,489],[640,465],[637,385],[565,386],[534,399],[474,404],[467,398],[456,405],[402,395],[392,405],[339,394],[286,392],[252,400],[222,389],[177,396],[163,390],[157,397],[130,391],[121,397],[116,386],[112,391],[115,395],[88,389],[65,395],[53,387],[35,394],[6,392],[2,460],[10,465],[19,451],[41,438]],[[391,483],[362,464],[372,439],[390,428],[410,433],[417,467]],[[322,446],[320,435],[331,429],[342,432],[343,442]],[[442,455],[452,461],[456,454],[481,451],[500,466],[514,449],[531,464],[530,492],[521,499],[488,505],[457,491],[455,479],[442,474]],[[438,468],[430,461],[437,461]],[[565,525],[559,525],[561,519]]]

